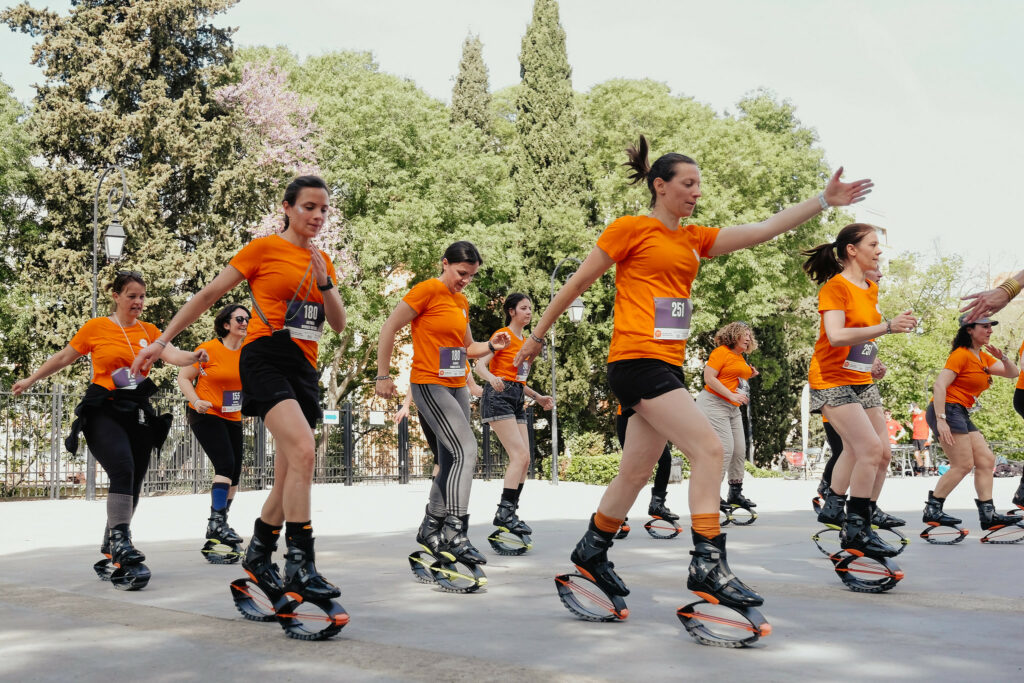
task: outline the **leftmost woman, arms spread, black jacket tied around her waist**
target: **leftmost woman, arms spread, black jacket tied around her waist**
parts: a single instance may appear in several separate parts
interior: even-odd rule
[[[68,346],[27,379],[15,382],[11,391],[16,396],[83,355],[90,356],[92,383],[75,409],[78,419],[66,444],[72,454],[78,451],[81,431],[89,451],[106,472],[110,488],[100,552],[117,566],[130,566],[145,561],[132,545],[129,527],[150,457],[167,437],[170,416],[158,416],[150,402],[157,385],[148,379],[148,369],[141,373],[130,369],[160,335],[156,326],[138,319],[145,305],[145,281],[141,273],[122,270],[110,290],[114,312],[83,325]],[[173,346],[168,346],[165,355],[165,360],[176,366],[206,359],[205,352],[182,351]]]

